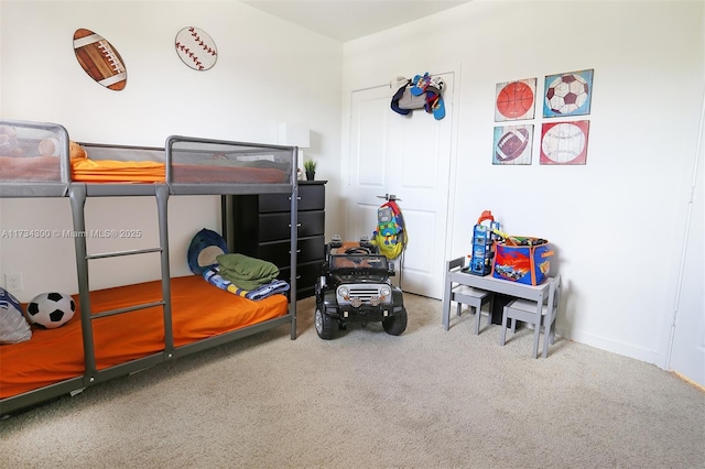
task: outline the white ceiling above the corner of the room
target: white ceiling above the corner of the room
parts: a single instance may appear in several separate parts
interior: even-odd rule
[[[347,42],[468,1],[471,0],[249,0],[243,3]]]

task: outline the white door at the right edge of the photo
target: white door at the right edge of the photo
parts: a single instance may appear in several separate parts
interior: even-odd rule
[[[705,103],[704,103],[705,107]],[[702,126],[705,130],[705,119]],[[682,283],[677,295],[675,326],[669,369],[677,371],[705,388],[705,132],[694,184],[695,197],[683,257]]]

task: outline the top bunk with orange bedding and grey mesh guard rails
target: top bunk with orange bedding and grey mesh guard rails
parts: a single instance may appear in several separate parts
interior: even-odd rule
[[[0,120],[0,195],[55,195],[41,187],[70,183],[166,183],[189,194],[253,193],[251,186],[268,185],[286,192],[296,181],[296,153],[293,146],[176,135],[164,148],[78,144],[58,124]]]

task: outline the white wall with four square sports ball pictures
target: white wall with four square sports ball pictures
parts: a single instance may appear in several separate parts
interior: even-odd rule
[[[703,17],[702,2],[474,1],[346,43],[344,111],[354,89],[456,72],[447,258],[469,252],[473,225],[491,209],[508,232],[554,243],[561,335],[663,366],[703,96]],[[539,165],[539,105],[533,164],[494,166],[496,84],[536,77],[541,96],[545,75],[585,68],[595,69],[587,165]],[[347,134],[343,145],[347,161]],[[702,279],[685,282],[702,292]]]

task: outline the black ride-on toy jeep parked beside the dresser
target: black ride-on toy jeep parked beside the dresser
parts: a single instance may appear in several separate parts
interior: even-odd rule
[[[406,308],[401,288],[392,285],[394,265],[362,238],[343,243],[333,237],[316,283],[314,324],[322,339],[334,339],[348,323],[382,323],[387,334],[406,329]]]

